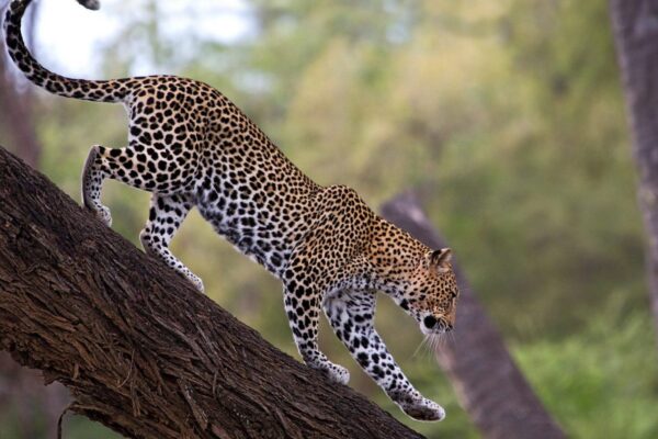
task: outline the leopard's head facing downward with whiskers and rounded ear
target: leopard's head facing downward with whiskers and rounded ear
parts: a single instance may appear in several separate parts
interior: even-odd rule
[[[450,248],[428,251],[409,273],[399,305],[420,324],[424,335],[451,331],[460,290],[450,263]]]

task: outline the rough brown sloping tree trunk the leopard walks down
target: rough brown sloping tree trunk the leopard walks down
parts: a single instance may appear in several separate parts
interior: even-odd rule
[[[0,148],[0,348],[134,438],[419,438]]]

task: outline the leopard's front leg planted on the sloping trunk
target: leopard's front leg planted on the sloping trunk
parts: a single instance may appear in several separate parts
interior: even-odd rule
[[[284,288],[284,307],[288,317],[293,338],[304,362],[325,373],[331,381],[347,384],[350,372],[333,364],[318,348],[318,320],[320,316],[320,294],[313,286],[303,286],[292,281]]]

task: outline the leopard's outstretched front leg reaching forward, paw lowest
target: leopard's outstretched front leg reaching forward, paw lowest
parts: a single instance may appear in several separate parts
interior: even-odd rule
[[[375,299],[371,292],[338,293],[325,302],[325,313],[352,357],[407,415],[418,420],[442,420],[443,407],[413,387],[375,330]]]

